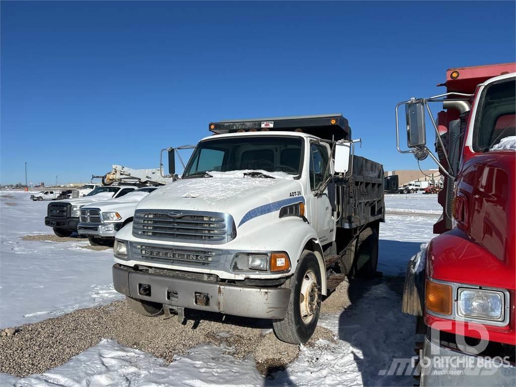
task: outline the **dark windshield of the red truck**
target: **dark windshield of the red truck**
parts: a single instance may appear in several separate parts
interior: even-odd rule
[[[473,133],[473,149],[487,152],[504,137],[516,134],[516,80],[509,78],[487,86],[481,104]]]

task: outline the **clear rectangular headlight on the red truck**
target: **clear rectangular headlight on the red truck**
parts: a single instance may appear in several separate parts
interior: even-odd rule
[[[457,314],[462,317],[502,321],[504,294],[483,289],[459,288]]]

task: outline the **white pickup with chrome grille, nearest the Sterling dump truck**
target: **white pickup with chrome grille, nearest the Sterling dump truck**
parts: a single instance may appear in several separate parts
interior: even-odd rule
[[[80,208],[78,233],[88,237],[92,246],[111,245],[115,234],[133,221],[138,202],[158,187],[143,187],[122,197],[87,204]]]

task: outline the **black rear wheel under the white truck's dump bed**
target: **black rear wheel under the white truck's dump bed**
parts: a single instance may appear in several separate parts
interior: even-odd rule
[[[355,272],[360,278],[374,278],[378,265],[378,232],[367,228],[358,237],[355,248]]]

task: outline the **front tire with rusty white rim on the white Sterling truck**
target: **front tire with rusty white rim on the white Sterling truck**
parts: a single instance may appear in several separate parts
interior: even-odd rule
[[[291,296],[285,317],[272,321],[274,333],[285,343],[305,343],[317,327],[321,304],[321,273],[312,251],[303,251],[296,272],[283,286],[291,289]]]

